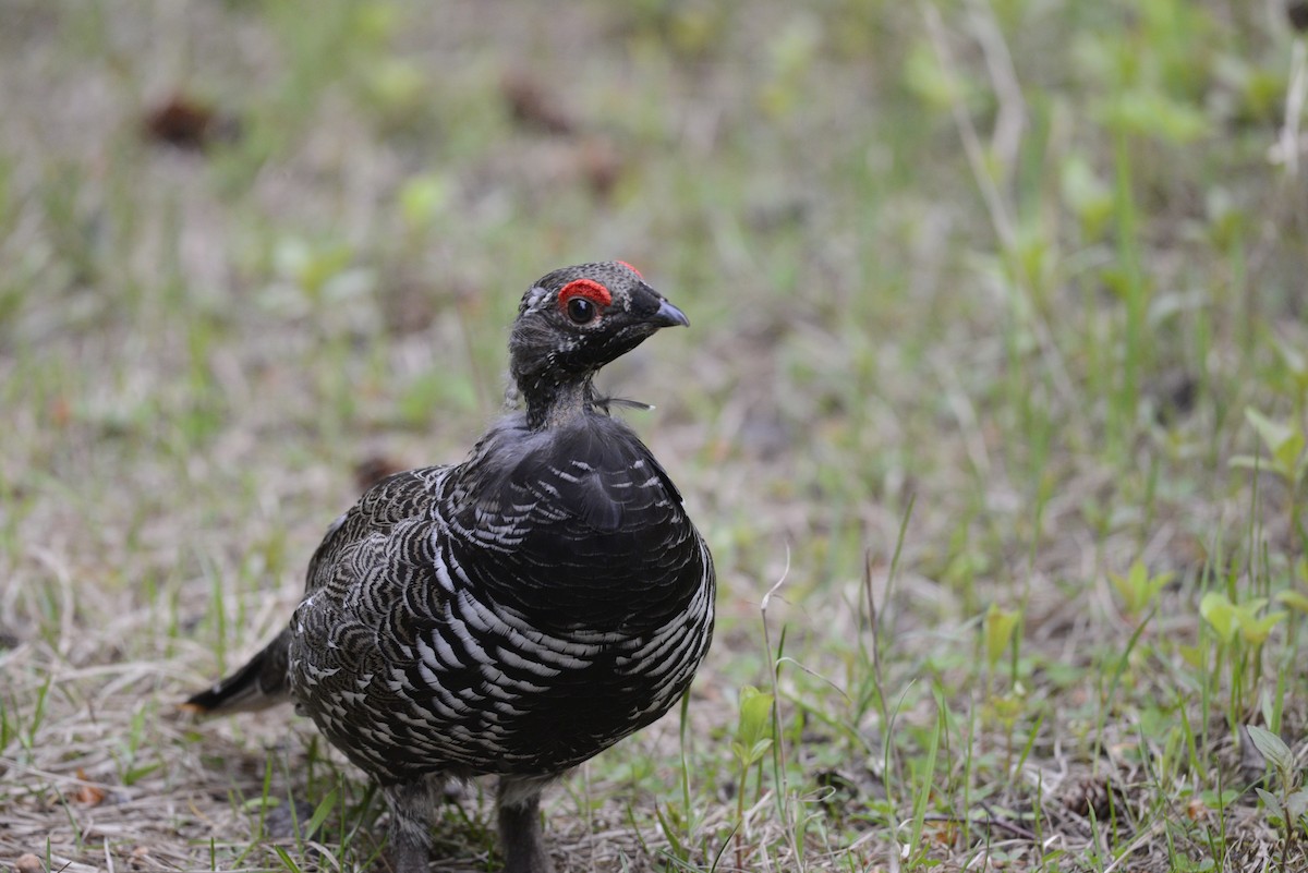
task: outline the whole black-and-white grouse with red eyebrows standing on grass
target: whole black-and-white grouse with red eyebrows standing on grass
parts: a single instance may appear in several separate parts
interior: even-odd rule
[[[506,873],[552,873],[540,795],[687,694],[713,557],[595,374],[685,314],[625,261],[556,269],[509,336],[511,409],[459,464],[395,473],[328,528],[286,627],[194,694],[293,702],[374,779],[392,869],[425,870],[451,780],[497,776]]]

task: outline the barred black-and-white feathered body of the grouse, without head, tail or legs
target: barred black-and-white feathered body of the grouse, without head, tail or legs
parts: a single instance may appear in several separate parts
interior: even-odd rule
[[[515,416],[462,467],[386,480],[314,555],[292,693],[391,782],[581,763],[708,650],[713,565],[675,494],[603,416],[536,439]]]

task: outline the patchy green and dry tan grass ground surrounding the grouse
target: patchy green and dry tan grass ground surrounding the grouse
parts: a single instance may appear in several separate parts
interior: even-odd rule
[[[549,795],[564,869],[1308,865],[1275,4],[9,5],[0,864],[375,863],[307,721],[174,704],[356,469],[467,451],[527,282],[621,257],[693,324],[604,382],[719,623]],[[434,869],[496,869],[484,788]]]

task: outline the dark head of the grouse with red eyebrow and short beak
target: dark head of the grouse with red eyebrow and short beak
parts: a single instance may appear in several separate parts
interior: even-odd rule
[[[629,264],[565,267],[523,294],[509,371],[530,414],[534,403],[549,403],[568,386],[589,386],[606,363],[675,324],[689,320]]]

